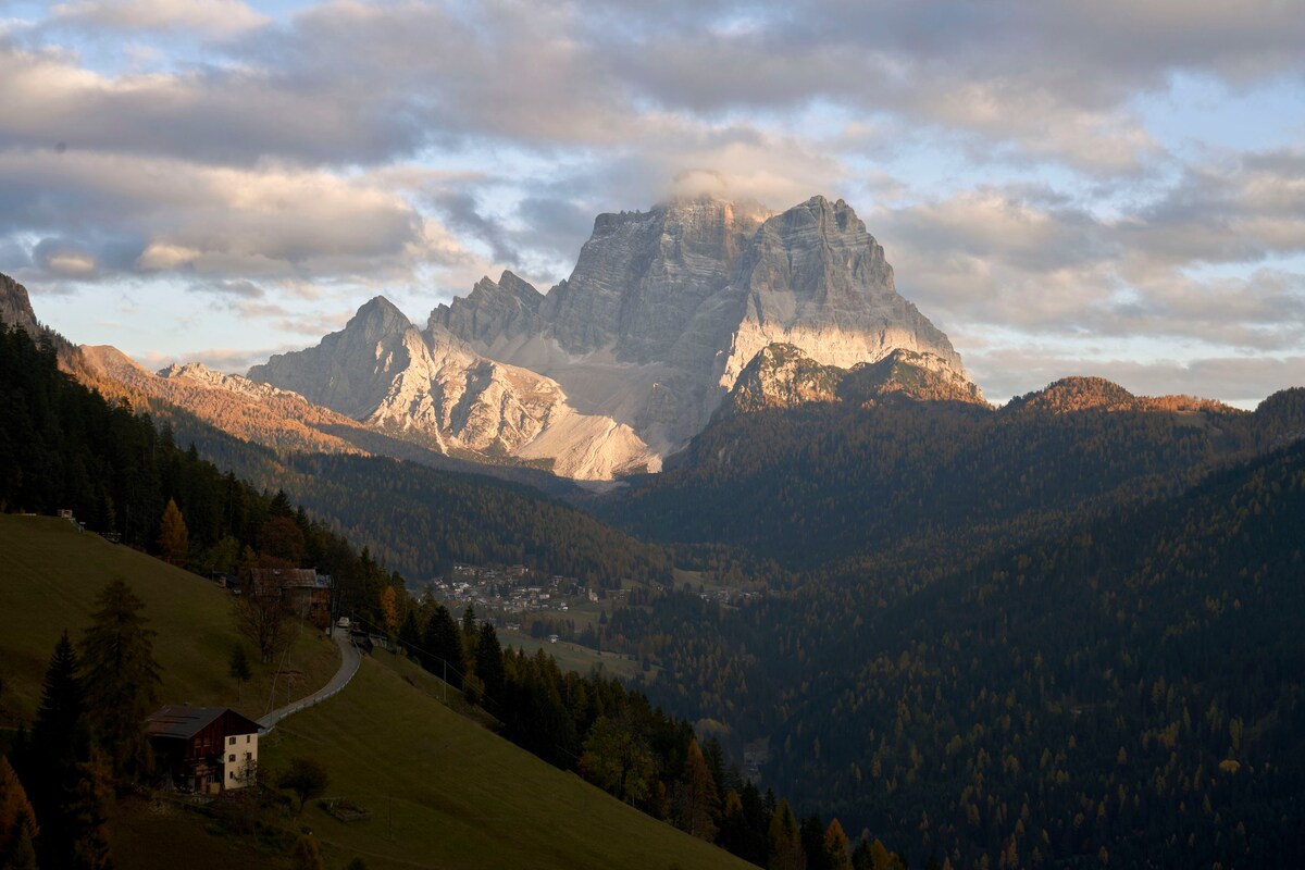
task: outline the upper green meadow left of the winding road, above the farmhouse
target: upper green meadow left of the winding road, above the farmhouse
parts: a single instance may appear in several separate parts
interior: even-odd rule
[[[77,640],[90,623],[97,592],[115,577],[125,578],[145,600],[145,616],[158,631],[154,655],[163,665],[161,702],[222,704],[256,717],[266,712],[271,667],[253,664],[254,678],[240,693],[243,703],[227,676],[238,639],[227,592],[144,553],[78,532],[67,520],[0,514],[0,727],[31,723],[60,631],[67,627]],[[301,697],[325,685],[337,668],[335,644],[311,629],[301,631],[277,681],[277,703],[287,700],[287,691]]]

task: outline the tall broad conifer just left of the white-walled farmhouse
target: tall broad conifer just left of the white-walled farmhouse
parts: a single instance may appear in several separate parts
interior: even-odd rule
[[[141,614],[145,603],[116,578],[98,599],[99,609],[81,643],[86,710],[114,781],[128,785],[147,773],[153,755],[145,733],[158,698],[159,665],[154,630]]]

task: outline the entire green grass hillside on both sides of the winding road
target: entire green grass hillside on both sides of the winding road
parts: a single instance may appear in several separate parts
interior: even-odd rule
[[[0,515],[0,554],[5,719],[30,721],[60,630],[80,633],[95,592],[115,575],[145,599],[159,633],[163,699],[235,699],[226,677],[235,635],[223,591],[50,518]],[[318,663],[309,669],[313,678],[325,682],[338,660],[334,644],[304,633],[292,661],[311,657]],[[245,687],[247,712],[262,712],[268,685],[261,674]],[[311,803],[301,818],[284,820],[291,833],[312,827],[328,866],[343,867],[354,856],[373,870],[749,866],[495,737],[440,704],[441,690],[411,663],[378,653],[345,693],[287,719],[266,738],[268,770],[292,755],[318,758],[331,773],[328,793],[373,813],[371,820],[342,824]],[[119,810],[121,867],[180,866],[183,858],[196,867],[288,866],[256,841],[223,837],[202,818],[167,805],[137,800]]]

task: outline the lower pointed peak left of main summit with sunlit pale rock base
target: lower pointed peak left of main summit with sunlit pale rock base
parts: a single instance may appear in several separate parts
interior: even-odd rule
[[[485,284],[482,295],[504,299]],[[450,455],[535,460],[579,479],[658,464],[629,427],[577,411],[555,381],[485,359],[440,323],[422,333],[381,296],[316,347],[273,356],[249,377]]]

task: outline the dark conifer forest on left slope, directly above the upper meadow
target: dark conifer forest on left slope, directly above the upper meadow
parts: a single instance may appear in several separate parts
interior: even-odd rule
[[[260,560],[315,566],[335,577],[343,607],[371,609],[401,582],[284,493],[223,473],[168,427],[76,383],[52,344],[18,330],[0,329],[0,406],[3,510],[70,510],[89,531],[201,574]]]

